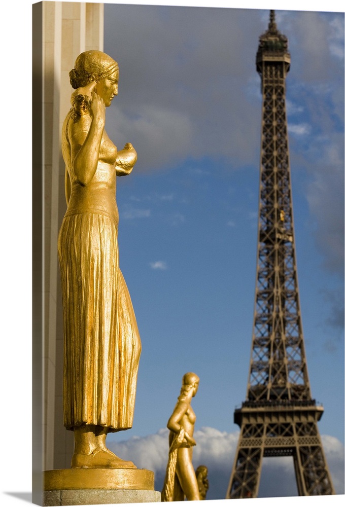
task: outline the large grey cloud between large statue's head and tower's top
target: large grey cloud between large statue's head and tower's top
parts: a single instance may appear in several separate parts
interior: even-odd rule
[[[248,162],[260,124],[260,102],[255,101],[255,124],[246,99],[253,75],[260,92],[255,65],[249,71],[247,63],[262,30],[259,11],[248,16],[242,9],[121,5],[106,10],[105,51],[116,48],[121,75],[107,131],[119,144],[133,142],[137,170],[204,156]],[[267,13],[265,18],[264,27]]]

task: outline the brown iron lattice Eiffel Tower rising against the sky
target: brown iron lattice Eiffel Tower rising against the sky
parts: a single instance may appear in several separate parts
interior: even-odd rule
[[[259,39],[262,131],[259,230],[252,351],[246,401],[227,498],[258,496],[262,458],[292,456],[299,495],[335,494],[312,399],[298,295],[285,79],[288,40],[270,11]]]

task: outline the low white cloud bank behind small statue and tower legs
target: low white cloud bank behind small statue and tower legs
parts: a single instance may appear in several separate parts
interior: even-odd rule
[[[203,464],[209,469],[208,499],[225,498],[239,432],[227,433],[203,427],[194,433],[194,468]],[[337,494],[344,493],[344,446],[334,437],[322,436],[326,460]],[[161,491],[168,458],[168,430],[160,429],[147,437],[132,437],[109,447],[122,459],[132,460],[138,468],[155,473],[155,489]],[[292,457],[265,458],[260,481],[261,497],[293,496],[297,494]]]

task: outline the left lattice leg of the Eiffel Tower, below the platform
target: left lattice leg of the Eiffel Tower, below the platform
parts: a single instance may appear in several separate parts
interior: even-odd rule
[[[237,447],[227,498],[256,498],[260,484],[262,447]]]

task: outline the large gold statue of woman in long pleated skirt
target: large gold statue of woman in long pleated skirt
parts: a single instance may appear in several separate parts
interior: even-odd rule
[[[74,431],[72,467],[131,467],[106,446],[132,426],[141,341],[119,269],[116,176],[136,162],[105,131],[119,68],[86,51],[70,72],[72,108],[62,128],[67,210],[58,238],[64,317],[64,425]]]

